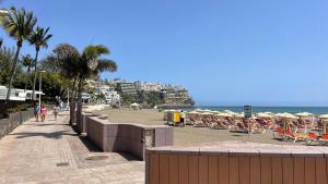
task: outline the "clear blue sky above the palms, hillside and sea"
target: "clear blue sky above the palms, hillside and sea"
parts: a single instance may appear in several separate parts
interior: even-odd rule
[[[110,48],[121,77],[181,84],[198,105],[328,106],[328,1],[3,0],[50,26],[49,48]],[[1,32],[0,36],[4,33]],[[12,42],[5,38],[5,45]],[[24,52],[34,54],[30,46]]]

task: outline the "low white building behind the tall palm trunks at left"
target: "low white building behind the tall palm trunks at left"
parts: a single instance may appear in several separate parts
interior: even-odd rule
[[[5,86],[0,86],[0,100],[5,100],[7,98],[8,88]],[[25,101],[26,99],[32,99],[32,93],[33,90],[26,90],[24,89],[16,89],[12,88],[10,91],[10,100],[16,100],[16,101]],[[38,90],[35,90],[36,99],[38,99],[38,96],[45,95],[44,93],[39,93]]]

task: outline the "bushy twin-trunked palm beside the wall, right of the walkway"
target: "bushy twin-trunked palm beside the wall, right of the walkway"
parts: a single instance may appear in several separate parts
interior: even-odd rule
[[[79,51],[70,45],[59,45],[52,50],[52,53],[45,59],[44,65],[46,70],[59,72],[62,76],[72,81],[72,95],[70,99],[71,125],[77,122],[80,127],[82,91],[85,79],[105,71],[115,72],[117,70],[117,65],[114,61],[101,58],[106,53],[109,53],[109,50],[105,46],[89,46],[82,53],[79,53]],[[78,115],[75,121],[74,109],[77,93]]]

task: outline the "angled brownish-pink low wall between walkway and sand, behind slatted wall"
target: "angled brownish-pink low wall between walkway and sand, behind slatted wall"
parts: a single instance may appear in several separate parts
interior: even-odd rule
[[[173,145],[173,127],[110,123],[102,116],[86,116],[86,135],[103,151],[130,152],[141,160],[145,148]]]

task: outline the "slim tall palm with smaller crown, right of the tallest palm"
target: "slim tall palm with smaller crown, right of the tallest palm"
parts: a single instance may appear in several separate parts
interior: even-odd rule
[[[37,57],[40,48],[48,48],[48,40],[52,37],[52,35],[48,34],[49,27],[44,29],[39,26],[36,27],[35,32],[33,32],[32,36],[28,38],[31,45],[35,46],[35,59],[34,59],[34,78],[33,78],[33,93],[32,100],[35,100],[35,84],[37,77]]]

